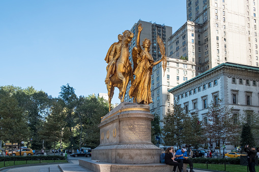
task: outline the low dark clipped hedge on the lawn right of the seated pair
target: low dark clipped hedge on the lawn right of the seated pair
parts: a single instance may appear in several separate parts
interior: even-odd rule
[[[240,164],[240,158],[190,158],[193,163]]]

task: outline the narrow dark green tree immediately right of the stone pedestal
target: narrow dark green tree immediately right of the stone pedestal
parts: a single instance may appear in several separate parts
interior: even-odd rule
[[[154,114],[154,120],[151,121],[151,141],[153,144],[160,144],[161,128],[159,123],[160,117]],[[159,139],[157,137],[159,137]]]

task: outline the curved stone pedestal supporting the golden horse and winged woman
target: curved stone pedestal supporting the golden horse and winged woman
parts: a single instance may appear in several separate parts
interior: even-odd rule
[[[105,115],[100,128],[100,145],[92,160],[122,164],[159,163],[161,149],[151,143],[149,105],[122,102]]]

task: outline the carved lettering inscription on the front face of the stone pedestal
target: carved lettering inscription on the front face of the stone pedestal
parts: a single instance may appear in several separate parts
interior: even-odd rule
[[[125,125],[122,128],[123,133],[125,133],[130,140],[148,139],[150,137],[147,130],[147,123],[134,122],[133,125]]]

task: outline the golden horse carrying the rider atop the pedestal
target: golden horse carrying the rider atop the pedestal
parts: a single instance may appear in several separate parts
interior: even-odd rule
[[[119,98],[121,99],[121,102],[123,102],[129,80],[134,80],[131,62],[129,61],[129,43],[133,36],[134,34],[129,30],[123,32],[121,46],[115,57],[109,61],[107,66],[108,82],[106,83],[106,86],[109,97],[109,111],[111,110],[110,105],[114,94],[114,87],[119,88]],[[106,56],[109,55],[108,53]]]

